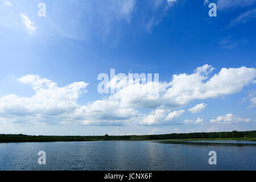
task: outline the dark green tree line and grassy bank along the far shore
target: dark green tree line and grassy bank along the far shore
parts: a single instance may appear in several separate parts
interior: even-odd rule
[[[202,140],[202,139],[236,139],[256,141],[255,131],[226,131],[210,133],[172,133],[160,135],[123,135],[123,136],[32,136],[23,134],[0,134],[0,143],[7,142],[80,142],[96,140]]]

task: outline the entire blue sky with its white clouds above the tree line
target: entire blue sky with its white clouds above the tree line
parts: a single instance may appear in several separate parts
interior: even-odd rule
[[[0,0],[0,133],[255,130],[255,18],[256,0]],[[112,68],[159,73],[159,97],[98,93]]]

